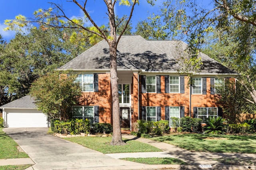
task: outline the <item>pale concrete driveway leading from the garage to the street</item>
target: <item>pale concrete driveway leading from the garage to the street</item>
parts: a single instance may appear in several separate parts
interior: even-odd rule
[[[138,169],[144,164],[114,159],[95,150],[48,135],[48,128],[3,129],[35,162],[34,170]]]

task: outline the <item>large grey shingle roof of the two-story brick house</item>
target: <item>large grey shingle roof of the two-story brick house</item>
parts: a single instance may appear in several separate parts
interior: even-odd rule
[[[118,70],[177,72],[177,59],[185,55],[183,41],[148,41],[139,35],[123,35],[117,47]],[[207,55],[200,53],[204,73],[236,74]],[[100,41],[59,70],[109,70],[109,46]]]

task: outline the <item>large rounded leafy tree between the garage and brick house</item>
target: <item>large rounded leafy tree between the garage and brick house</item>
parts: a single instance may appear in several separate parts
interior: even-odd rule
[[[76,75],[64,72],[49,73],[36,80],[31,86],[30,94],[36,98],[39,110],[50,118],[72,118],[73,106],[82,99],[82,90],[74,80]]]

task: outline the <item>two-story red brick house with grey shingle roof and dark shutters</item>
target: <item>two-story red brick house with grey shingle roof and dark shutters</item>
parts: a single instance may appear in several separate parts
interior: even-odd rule
[[[123,35],[117,47],[117,71],[121,128],[132,130],[138,119],[170,120],[170,117],[221,115],[214,102],[217,86],[238,74],[200,53],[203,67],[188,85],[182,66],[186,44],[182,41],[148,41],[138,35]],[[73,70],[84,94],[97,98],[89,106],[74,107],[74,117],[112,123],[109,47],[100,41],[58,70]]]

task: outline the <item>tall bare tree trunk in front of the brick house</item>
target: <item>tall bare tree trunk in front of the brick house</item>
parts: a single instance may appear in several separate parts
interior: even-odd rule
[[[120,128],[120,107],[118,99],[118,77],[116,60],[116,23],[114,14],[114,5],[112,0],[108,0],[108,16],[110,25],[110,39],[108,39],[110,53],[110,82],[112,92],[112,119],[113,119],[113,137],[110,145],[125,145],[122,140]]]

